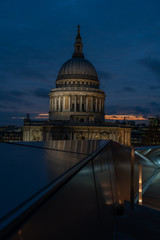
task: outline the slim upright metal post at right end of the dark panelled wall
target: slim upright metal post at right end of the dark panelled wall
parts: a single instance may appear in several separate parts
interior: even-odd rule
[[[131,209],[134,209],[134,148],[131,149],[131,192],[130,192],[130,201]]]

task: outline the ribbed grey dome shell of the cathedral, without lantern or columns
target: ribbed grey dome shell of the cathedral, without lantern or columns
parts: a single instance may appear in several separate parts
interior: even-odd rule
[[[98,76],[93,65],[83,57],[71,58],[65,62],[59,73],[60,79],[91,79],[98,81]]]

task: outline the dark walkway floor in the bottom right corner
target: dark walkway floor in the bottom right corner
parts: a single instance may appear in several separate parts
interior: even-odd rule
[[[124,215],[117,217],[118,240],[159,240],[160,239],[160,211],[125,202]]]

